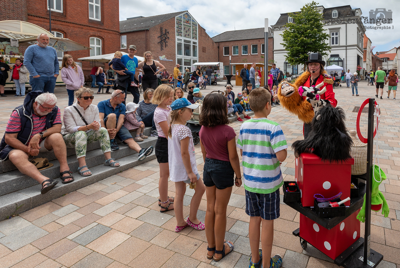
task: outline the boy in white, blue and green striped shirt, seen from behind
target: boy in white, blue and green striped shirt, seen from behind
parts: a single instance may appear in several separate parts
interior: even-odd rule
[[[282,257],[271,256],[273,220],[279,217],[279,187],[283,184],[280,162],[286,159],[287,144],[280,126],[266,119],[271,112],[271,94],[257,88],[249,94],[254,118],[240,127],[237,147],[242,155],[246,213],[250,216],[251,268],[282,265]],[[260,223],[261,249],[259,246]],[[263,252],[263,254],[262,254]],[[264,257],[262,257],[262,255]]]

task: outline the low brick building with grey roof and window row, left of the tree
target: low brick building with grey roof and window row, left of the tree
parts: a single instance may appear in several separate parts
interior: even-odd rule
[[[273,33],[268,28],[268,62],[273,61]],[[218,46],[218,61],[223,63],[224,75],[229,74],[229,56],[234,75],[236,64],[264,63],[264,28],[227,31],[212,40]]]

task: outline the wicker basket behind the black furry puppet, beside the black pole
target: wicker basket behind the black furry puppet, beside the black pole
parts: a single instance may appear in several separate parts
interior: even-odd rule
[[[354,158],[354,165],[351,165],[351,175],[361,175],[366,173],[366,143],[358,139],[355,130],[350,131],[353,144],[350,148],[350,155]]]

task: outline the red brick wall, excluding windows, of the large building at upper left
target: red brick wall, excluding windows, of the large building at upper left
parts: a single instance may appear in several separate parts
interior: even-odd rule
[[[18,0],[19,1],[19,0]],[[51,12],[51,30],[64,34],[81,45],[89,47],[89,38],[101,39],[102,54],[119,50],[119,11],[117,0],[100,0],[101,21],[89,20],[87,1],[63,1],[63,13]],[[49,31],[49,15],[45,1],[31,1],[27,7],[27,21]],[[118,42],[115,42],[117,40]],[[88,50],[65,52],[78,58],[90,56]],[[103,64],[99,64],[103,65]],[[87,75],[91,70],[90,63],[82,62],[82,69]],[[108,67],[106,67],[108,69]]]

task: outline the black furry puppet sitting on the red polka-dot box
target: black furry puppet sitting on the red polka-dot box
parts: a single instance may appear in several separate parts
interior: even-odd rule
[[[293,142],[294,156],[313,153],[322,160],[338,162],[350,158],[352,140],[344,124],[345,113],[341,108],[323,106],[311,122],[311,132],[304,140]]]

